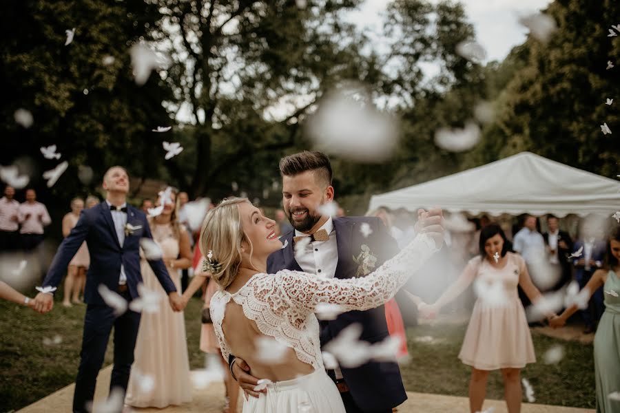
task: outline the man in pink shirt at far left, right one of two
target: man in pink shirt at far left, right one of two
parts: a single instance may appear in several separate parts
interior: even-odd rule
[[[43,226],[52,222],[48,209],[41,202],[37,202],[37,193],[34,189],[26,189],[26,200],[19,205],[17,213],[21,229],[21,248],[32,251],[43,242]]]

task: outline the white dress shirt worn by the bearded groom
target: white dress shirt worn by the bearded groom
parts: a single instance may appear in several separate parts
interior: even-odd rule
[[[329,234],[329,241],[309,242],[303,250],[296,251],[295,260],[304,273],[316,274],[319,277],[333,278],[338,266],[338,243],[333,229],[331,217],[317,231],[324,229]],[[308,236],[295,230],[296,237]],[[342,379],[340,368],[334,370],[335,378]]]

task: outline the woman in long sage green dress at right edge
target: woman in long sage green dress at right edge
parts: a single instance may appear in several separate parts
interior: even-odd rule
[[[620,412],[620,226],[610,236],[606,264],[583,287],[588,288],[591,297],[603,286],[605,296],[605,313],[599,321],[594,342],[598,413]],[[551,319],[550,326],[564,326],[575,311],[575,304],[566,308],[564,313]]]

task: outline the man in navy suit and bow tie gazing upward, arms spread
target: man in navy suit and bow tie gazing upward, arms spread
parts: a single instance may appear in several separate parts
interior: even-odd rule
[[[99,294],[100,286],[132,301],[138,297],[140,273],[140,239],[152,238],[145,214],[127,205],[129,177],[123,167],[108,169],[103,177],[107,191],[105,202],[82,211],[79,221],[60,245],[43,287],[57,286],[65,270],[83,241],[90,253],[90,268],[86,277],[84,299],[88,304],[84,318],[81,360],[75,380],[73,411],[87,412],[92,402],[97,374],[103,364],[107,341],[114,326],[114,368],[110,391],[127,390],[130,370],[134,362],[134,347],[140,324],[140,313],[127,310],[116,316],[114,308],[107,306]],[[149,261],[153,272],[168,294],[172,309],[180,308],[180,297],[161,260]],[[51,310],[54,299],[51,293],[39,293],[35,298],[43,308]],[[124,399],[124,396],[123,396]]]

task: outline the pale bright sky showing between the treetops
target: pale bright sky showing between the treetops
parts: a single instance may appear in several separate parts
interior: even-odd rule
[[[440,0],[428,0],[439,3]],[[373,28],[378,14],[386,9],[389,0],[366,0],[350,19],[360,28]],[[502,61],[508,52],[526,40],[528,30],[517,19],[546,8],[550,0],[462,0],[469,21],[473,23],[477,42],[487,52],[486,61]]]

